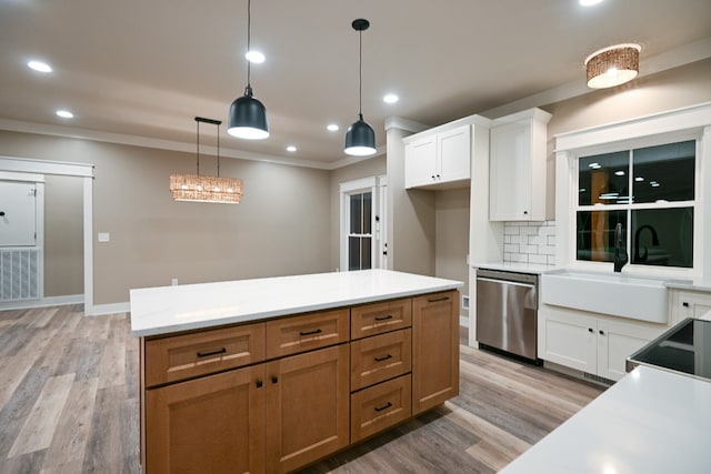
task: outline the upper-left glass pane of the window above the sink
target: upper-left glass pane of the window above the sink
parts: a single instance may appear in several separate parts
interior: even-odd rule
[[[628,151],[581,157],[578,164],[579,205],[629,202]]]

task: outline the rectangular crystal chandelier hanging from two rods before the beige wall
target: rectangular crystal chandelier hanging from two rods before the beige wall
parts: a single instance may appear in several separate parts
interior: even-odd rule
[[[218,128],[218,175],[200,175],[200,122]],[[176,201],[239,204],[242,198],[242,180],[220,178],[220,124],[222,121],[196,117],[197,123],[197,168],[198,174],[171,174],[170,193]]]

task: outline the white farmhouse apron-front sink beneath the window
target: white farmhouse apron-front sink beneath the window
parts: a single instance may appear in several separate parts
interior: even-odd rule
[[[669,322],[664,280],[554,270],[541,275],[541,302],[652,323]]]

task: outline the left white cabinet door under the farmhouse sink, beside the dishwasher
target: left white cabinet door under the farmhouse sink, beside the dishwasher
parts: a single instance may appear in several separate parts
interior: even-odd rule
[[[539,312],[539,357],[594,374],[598,365],[593,317],[549,309]]]

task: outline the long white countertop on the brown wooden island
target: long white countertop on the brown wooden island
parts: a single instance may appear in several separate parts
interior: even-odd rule
[[[131,334],[147,336],[349,306],[463,286],[388,270],[131,290]]]

